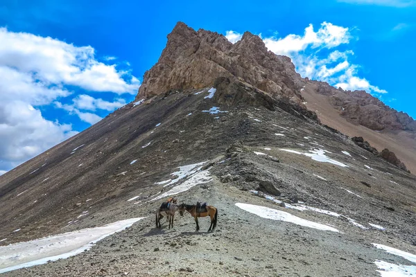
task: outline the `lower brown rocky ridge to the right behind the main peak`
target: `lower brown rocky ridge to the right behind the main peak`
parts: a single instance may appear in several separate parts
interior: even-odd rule
[[[380,131],[382,129],[415,132],[416,121],[402,111],[396,111],[365,91],[344,91],[326,82],[316,84],[317,92],[328,96],[331,105],[352,123]]]

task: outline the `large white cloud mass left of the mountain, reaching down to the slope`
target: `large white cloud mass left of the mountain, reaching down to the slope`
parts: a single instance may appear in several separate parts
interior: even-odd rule
[[[74,46],[6,28],[0,28],[0,42],[0,174],[78,133],[71,124],[46,119],[42,107],[74,95],[74,88],[128,97],[139,88],[139,80],[130,71],[98,62],[92,46]],[[109,56],[107,60],[114,59]],[[66,110],[89,124],[101,117],[83,109],[111,111],[125,103],[121,98],[114,102],[89,99],[86,94],[73,99],[78,102],[66,105]],[[87,108],[89,100],[92,107]]]

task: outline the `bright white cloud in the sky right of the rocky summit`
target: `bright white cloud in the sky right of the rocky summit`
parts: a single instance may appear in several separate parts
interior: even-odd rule
[[[369,93],[386,93],[387,91],[358,76],[360,66],[349,62],[354,55],[353,51],[336,49],[343,44],[349,44],[352,39],[354,37],[349,28],[324,22],[317,31],[309,24],[303,35],[263,37],[263,42],[275,54],[291,57],[297,72],[303,77],[328,82],[345,90],[362,89]]]

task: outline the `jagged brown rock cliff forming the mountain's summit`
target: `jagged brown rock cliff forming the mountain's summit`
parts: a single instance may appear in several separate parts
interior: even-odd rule
[[[200,89],[226,77],[248,83],[271,96],[302,102],[304,80],[291,59],[268,51],[257,35],[244,33],[236,44],[223,35],[177,23],[155,66],[144,74],[137,100],[171,89]]]

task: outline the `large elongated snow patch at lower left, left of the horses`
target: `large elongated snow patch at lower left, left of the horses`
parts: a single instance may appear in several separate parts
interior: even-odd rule
[[[144,217],[121,220],[101,227],[82,229],[0,247],[0,274],[48,261],[69,258],[90,249],[108,235],[123,231]]]

